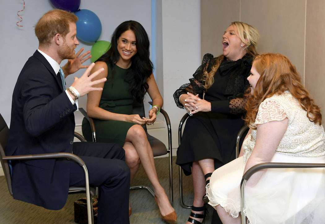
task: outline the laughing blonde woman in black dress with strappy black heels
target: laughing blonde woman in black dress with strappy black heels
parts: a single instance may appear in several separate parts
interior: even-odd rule
[[[235,159],[235,139],[244,124],[241,117],[250,95],[247,77],[258,40],[254,27],[233,22],[222,36],[223,54],[216,58],[205,54],[190,83],[174,93],[176,105],[193,115],[186,121],[176,160],[185,175],[192,173],[193,178],[194,201],[187,223],[202,222],[206,181],[216,168]]]

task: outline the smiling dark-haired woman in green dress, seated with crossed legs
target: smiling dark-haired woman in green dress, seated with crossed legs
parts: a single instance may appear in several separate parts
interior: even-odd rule
[[[125,162],[131,170],[131,182],[141,161],[153,186],[162,217],[175,221],[175,209],[159,183],[152,149],[141,127],[155,122],[163,101],[152,74],[149,38],[140,23],[129,20],[115,29],[111,48],[96,61],[93,70],[99,68],[104,68],[104,71],[95,79],[105,77],[107,81],[96,86],[102,87],[102,91],[93,91],[87,96],[87,114],[94,118],[96,139],[98,142],[115,142],[123,146]],[[132,114],[133,101],[141,102],[147,92],[154,105],[149,110],[149,119]],[[85,119],[82,128],[85,138],[91,141],[90,126]]]

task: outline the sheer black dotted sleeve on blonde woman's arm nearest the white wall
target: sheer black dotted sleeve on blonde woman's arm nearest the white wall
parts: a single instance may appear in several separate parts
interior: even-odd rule
[[[202,59],[201,66],[196,69],[195,73],[193,74],[193,78],[189,79],[189,83],[186,83],[179,87],[178,90],[175,91],[173,94],[175,103],[178,107],[183,108],[183,105],[179,102],[179,96],[182,94],[186,94],[187,92],[190,92],[194,95],[199,94],[199,97],[203,98],[203,93],[205,91],[205,88],[203,87],[202,82],[202,76],[205,69],[208,67],[211,67],[210,60],[213,59],[212,54],[205,54]],[[210,65],[210,66],[209,66]]]

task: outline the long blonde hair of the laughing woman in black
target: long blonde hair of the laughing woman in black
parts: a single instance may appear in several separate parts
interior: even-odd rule
[[[247,23],[238,22],[238,21],[232,22],[231,25],[237,27],[238,37],[240,38],[240,40],[243,43],[245,43],[244,49],[247,51],[247,53],[249,53],[252,56],[257,55],[255,46],[258,43],[258,40],[260,39],[260,34],[256,30],[256,28],[254,28],[253,26],[251,26]],[[214,78],[213,78],[214,74],[217,71],[217,69],[219,68],[224,57],[225,56],[220,55],[219,57],[217,57],[215,59],[215,64],[214,64],[214,66],[212,66],[210,72],[207,72],[206,69],[204,70],[203,76],[202,76],[202,81],[205,83],[203,85],[203,87],[205,89],[209,89],[212,86],[212,84],[214,82]]]

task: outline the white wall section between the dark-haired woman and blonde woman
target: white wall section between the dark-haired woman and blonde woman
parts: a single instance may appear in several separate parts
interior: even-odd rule
[[[177,148],[178,125],[186,111],[176,106],[173,93],[189,82],[201,64],[200,1],[162,1],[162,44],[164,109],[172,125],[173,148]]]

